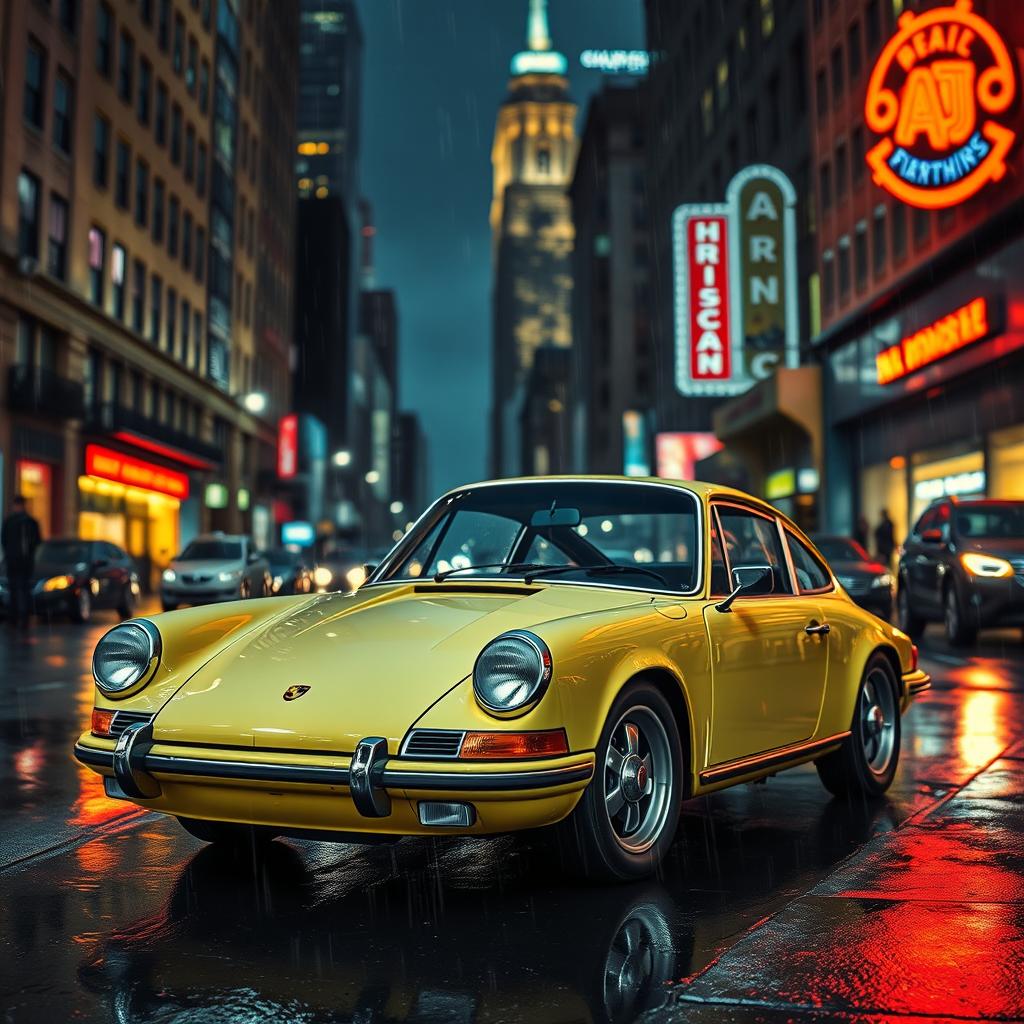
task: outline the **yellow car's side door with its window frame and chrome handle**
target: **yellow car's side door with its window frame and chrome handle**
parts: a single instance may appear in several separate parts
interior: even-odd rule
[[[778,519],[726,502],[713,505],[712,517],[713,590],[728,586],[740,565],[769,565],[774,578],[771,593],[740,596],[724,612],[714,598],[703,608],[713,689],[708,763],[721,765],[813,735],[828,644],[821,602],[794,583]]]

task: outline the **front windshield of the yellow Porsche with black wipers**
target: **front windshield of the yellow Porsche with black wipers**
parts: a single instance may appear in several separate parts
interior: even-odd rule
[[[514,566],[529,565],[564,567],[550,578],[539,574],[551,582],[691,591],[699,582],[697,507],[690,492],[655,484],[544,481],[471,488],[439,504],[374,582],[453,569],[459,570],[456,580],[514,577]],[[587,571],[607,566],[635,571],[615,570],[613,580]]]

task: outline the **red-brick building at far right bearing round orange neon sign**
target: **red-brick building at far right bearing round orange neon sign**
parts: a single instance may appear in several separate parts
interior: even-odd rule
[[[826,515],[897,541],[1024,498],[1024,5],[902,6],[809,0]]]

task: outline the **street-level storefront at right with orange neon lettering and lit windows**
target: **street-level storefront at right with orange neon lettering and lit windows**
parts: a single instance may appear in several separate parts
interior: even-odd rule
[[[824,360],[831,529],[887,510],[902,541],[946,496],[1024,499],[1024,241],[840,342]]]

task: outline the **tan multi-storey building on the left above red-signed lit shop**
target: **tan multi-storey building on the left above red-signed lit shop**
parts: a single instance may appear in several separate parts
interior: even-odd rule
[[[264,158],[294,146],[294,65],[267,49],[297,47],[297,17],[266,0],[4,16],[3,493],[47,535],[125,546],[154,583],[197,531],[269,519],[257,470],[287,388],[255,390],[254,325],[290,324],[290,294],[254,289],[291,226],[257,211]]]

